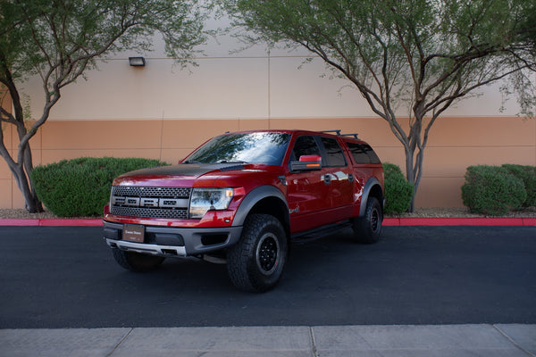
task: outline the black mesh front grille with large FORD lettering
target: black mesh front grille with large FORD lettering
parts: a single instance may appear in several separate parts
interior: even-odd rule
[[[170,200],[173,199],[180,199],[181,202],[188,202],[190,193],[190,187],[114,186],[112,187],[112,196],[110,200],[110,213],[117,216],[185,220],[188,219],[188,204],[183,204],[183,206],[180,207],[151,207],[154,204],[140,207],[139,203],[129,204],[117,202],[121,202],[118,198],[122,197],[128,197],[130,199],[157,198],[166,199],[166,203],[169,205]],[[188,201],[185,201],[185,199],[188,199]],[[138,202],[139,201],[140,200],[138,200]]]

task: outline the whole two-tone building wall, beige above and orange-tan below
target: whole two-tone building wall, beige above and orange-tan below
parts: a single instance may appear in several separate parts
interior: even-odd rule
[[[162,46],[144,54],[147,65],[130,67],[129,55],[102,62],[63,90],[50,119],[32,139],[34,163],[80,156],[147,157],[177,162],[206,139],[243,129],[342,129],[358,132],[383,162],[404,170],[404,151],[387,123],[376,117],[345,79],[303,51],[257,46],[238,54],[229,38],[205,46],[197,67],[181,70]],[[303,65],[302,65],[303,64]],[[298,69],[298,67],[301,67]],[[322,75],[323,74],[323,75]],[[33,117],[42,110],[41,85],[24,85]],[[536,165],[536,120],[515,116],[509,102],[499,112],[497,88],[457,104],[437,121],[424,158],[416,204],[461,206],[465,169],[473,164]],[[402,108],[398,112],[406,117]],[[4,142],[16,150],[13,128]],[[0,162],[0,208],[23,207],[22,196]]]

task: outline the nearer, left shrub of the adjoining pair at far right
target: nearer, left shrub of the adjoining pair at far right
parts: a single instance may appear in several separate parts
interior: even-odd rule
[[[471,212],[498,216],[520,209],[526,199],[522,179],[498,166],[470,166],[465,173],[462,199]]]

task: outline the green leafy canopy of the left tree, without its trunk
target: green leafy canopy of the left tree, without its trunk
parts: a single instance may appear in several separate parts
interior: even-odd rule
[[[195,0],[3,1],[0,15],[0,62],[22,79],[37,71],[69,81],[96,57],[149,50],[155,32],[177,59],[205,41],[205,16]]]

